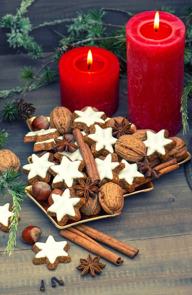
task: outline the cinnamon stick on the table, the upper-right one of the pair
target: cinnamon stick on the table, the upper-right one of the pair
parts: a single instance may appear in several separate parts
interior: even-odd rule
[[[102,242],[108,246],[110,246],[111,248],[129,256],[130,258],[134,258],[137,254],[138,254],[138,249],[129,246],[119,240],[117,240],[116,238],[112,237],[112,236],[108,236],[102,232],[99,232],[87,225],[76,225],[75,229],[77,229],[78,231],[82,232],[83,234],[90,236],[94,239],[96,239],[99,242]]]

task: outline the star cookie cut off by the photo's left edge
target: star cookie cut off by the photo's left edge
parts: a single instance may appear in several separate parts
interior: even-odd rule
[[[13,215],[13,206],[9,203],[4,206],[0,206],[0,230],[8,233],[10,231],[9,226],[11,224],[11,216]]]

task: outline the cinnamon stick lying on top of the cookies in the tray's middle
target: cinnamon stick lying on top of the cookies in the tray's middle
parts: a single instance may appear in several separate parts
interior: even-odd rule
[[[73,135],[77,141],[78,146],[80,147],[82,158],[85,162],[86,170],[91,181],[100,181],[101,178],[99,176],[99,172],[97,170],[97,165],[95,163],[95,159],[93,154],[89,148],[89,146],[83,141],[82,133],[79,129],[73,130]]]

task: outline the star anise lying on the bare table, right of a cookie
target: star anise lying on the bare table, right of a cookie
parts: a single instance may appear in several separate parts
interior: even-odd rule
[[[104,268],[106,266],[103,263],[99,262],[99,260],[99,256],[92,258],[92,256],[88,254],[87,259],[80,259],[81,264],[76,268],[82,270],[82,276],[85,276],[88,272],[90,272],[92,276],[95,276],[96,273],[102,272],[101,268]]]

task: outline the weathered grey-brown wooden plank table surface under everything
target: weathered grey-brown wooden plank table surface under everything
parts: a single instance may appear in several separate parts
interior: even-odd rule
[[[25,59],[23,56],[0,56],[0,87],[8,89],[19,84],[18,73],[24,65],[41,66],[43,60]],[[127,116],[127,81],[120,81],[120,105],[116,115]],[[13,98],[11,98],[13,99]],[[10,99],[10,100],[11,100]],[[47,115],[60,105],[59,83],[29,92],[26,96],[32,102],[37,115]],[[4,102],[0,101],[0,108]],[[189,102],[192,110],[192,101]],[[190,119],[192,128],[192,119]],[[27,163],[33,143],[24,144],[27,133],[24,120],[14,123],[0,123],[12,135],[7,149],[19,156],[21,165]],[[153,129],[153,124],[151,125]],[[192,130],[192,129],[191,129]],[[179,136],[189,142],[191,134]],[[27,180],[21,171],[21,177]],[[169,175],[155,180],[154,190],[127,197],[122,213],[88,223],[89,226],[113,236],[139,249],[134,260],[123,254],[122,266],[115,266],[101,259],[107,266],[101,275],[81,277],[76,269],[80,258],[86,258],[88,251],[70,242],[69,264],[59,264],[54,271],[46,266],[34,266],[34,252],[31,246],[21,240],[21,233],[28,225],[41,228],[40,241],[49,235],[56,241],[63,240],[60,230],[29,198],[22,204],[21,221],[18,226],[17,246],[11,257],[3,254],[8,234],[0,232],[0,294],[40,294],[41,279],[45,281],[45,294],[49,295],[190,295],[192,294],[192,191],[185,177],[184,165]],[[173,202],[171,202],[173,201]],[[6,194],[0,197],[0,205],[11,201]],[[115,251],[114,251],[115,252]],[[51,277],[64,277],[65,286],[51,287]]]

